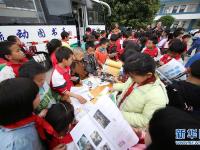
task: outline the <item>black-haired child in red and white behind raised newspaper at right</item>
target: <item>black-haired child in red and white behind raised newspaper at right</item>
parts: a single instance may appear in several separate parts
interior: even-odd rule
[[[183,60],[181,58],[181,54],[184,52],[185,45],[179,39],[173,39],[169,44],[169,49],[167,54],[163,55],[160,58],[160,65],[164,65],[168,63],[173,58],[183,64]]]

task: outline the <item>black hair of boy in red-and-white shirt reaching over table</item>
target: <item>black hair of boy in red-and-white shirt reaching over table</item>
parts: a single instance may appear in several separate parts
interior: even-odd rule
[[[68,47],[62,46],[58,50],[56,50],[55,55],[57,61],[60,63],[63,61],[63,59],[68,60],[70,56],[73,55],[73,52]]]

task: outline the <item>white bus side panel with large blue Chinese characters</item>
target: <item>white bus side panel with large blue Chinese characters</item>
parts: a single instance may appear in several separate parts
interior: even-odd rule
[[[75,25],[20,25],[20,26],[0,26],[0,41],[6,40],[9,35],[16,35],[19,39],[27,45],[29,42],[38,42],[37,49],[45,51],[46,44],[43,41],[50,41],[51,39],[61,39],[61,32],[66,31],[70,33],[72,39],[69,43],[77,43],[77,32]]]

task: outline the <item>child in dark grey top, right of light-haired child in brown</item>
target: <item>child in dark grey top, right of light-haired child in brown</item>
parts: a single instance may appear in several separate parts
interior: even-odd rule
[[[98,63],[94,56],[95,45],[94,42],[86,43],[86,55],[84,56],[85,68],[89,74],[97,75]]]

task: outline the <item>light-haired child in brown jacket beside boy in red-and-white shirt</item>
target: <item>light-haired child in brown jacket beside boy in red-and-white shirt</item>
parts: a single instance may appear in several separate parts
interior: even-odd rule
[[[74,53],[74,61],[71,65],[72,75],[78,77],[78,81],[83,80],[87,77],[88,73],[85,69],[85,65],[83,62],[84,53],[80,47],[77,47],[73,50]]]

